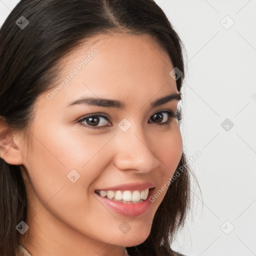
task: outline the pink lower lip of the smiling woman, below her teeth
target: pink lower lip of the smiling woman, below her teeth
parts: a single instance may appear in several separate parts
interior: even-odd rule
[[[154,188],[149,189],[148,196],[142,202],[137,203],[122,203],[117,202],[114,200],[107,199],[105,197],[100,196],[99,194],[95,193],[99,199],[103,202],[111,210],[130,217],[140,216],[146,213],[151,205],[151,201],[149,201],[149,197],[153,194]]]

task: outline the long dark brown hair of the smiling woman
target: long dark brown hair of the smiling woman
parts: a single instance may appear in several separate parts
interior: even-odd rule
[[[0,117],[11,129],[26,131],[36,98],[60,71],[59,59],[84,39],[113,31],[152,35],[181,72],[176,80],[180,92],[184,47],[153,0],[21,0],[0,28]],[[173,176],[177,172],[179,176],[171,180],[147,239],[126,247],[131,256],[174,255],[171,241],[183,226],[190,203],[189,165],[184,152]],[[26,222],[26,212],[19,166],[0,158],[1,255],[15,254],[15,227],[21,220]]]

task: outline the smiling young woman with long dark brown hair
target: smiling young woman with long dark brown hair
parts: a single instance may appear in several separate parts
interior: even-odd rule
[[[179,255],[182,43],[153,0],[21,0],[0,29],[0,254]]]

